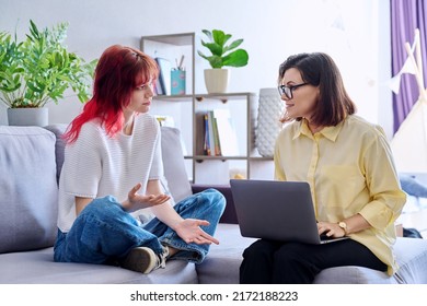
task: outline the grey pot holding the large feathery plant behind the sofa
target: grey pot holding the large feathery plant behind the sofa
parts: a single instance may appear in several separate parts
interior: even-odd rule
[[[46,127],[49,122],[47,107],[41,108],[8,108],[9,126]]]

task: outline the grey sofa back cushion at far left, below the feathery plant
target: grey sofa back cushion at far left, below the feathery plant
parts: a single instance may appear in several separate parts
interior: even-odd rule
[[[55,136],[0,127],[0,252],[51,246],[56,237]]]

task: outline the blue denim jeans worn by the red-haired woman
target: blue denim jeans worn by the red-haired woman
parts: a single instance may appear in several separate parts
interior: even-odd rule
[[[224,197],[215,189],[207,189],[182,200],[174,209],[183,219],[207,220],[210,225],[201,228],[214,236],[224,207]],[[114,197],[108,196],[88,204],[68,233],[58,231],[54,251],[55,261],[109,263],[139,246],[161,254],[162,245],[180,249],[174,259],[196,263],[200,263],[209,251],[209,245],[186,244],[157,217],[139,225]]]

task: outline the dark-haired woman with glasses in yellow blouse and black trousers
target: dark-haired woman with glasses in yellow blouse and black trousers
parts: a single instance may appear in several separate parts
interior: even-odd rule
[[[319,234],[349,239],[322,245],[259,239],[244,250],[241,283],[312,283],[323,269],[339,266],[393,274],[394,221],[405,193],[382,128],[355,115],[325,54],[289,57],[278,83],[288,125],[276,141],[275,178],[308,181]]]

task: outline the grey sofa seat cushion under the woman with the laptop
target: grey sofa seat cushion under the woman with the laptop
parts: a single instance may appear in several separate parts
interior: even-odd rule
[[[201,284],[239,283],[239,268],[243,250],[255,239],[240,235],[239,225],[219,224],[215,236],[220,244],[212,245],[204,262],[196,266]],[[427,240],[399,237],[394,245],[399,271],[386,273],[355,266],[336,267],[321,271],[315,284],[425,284],[427,283]]]

